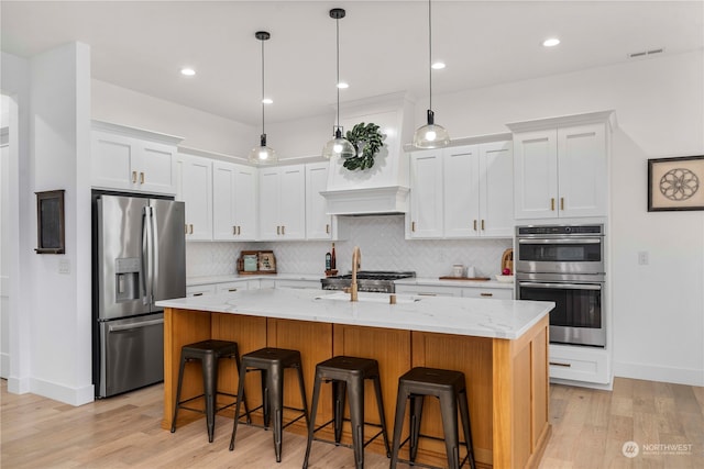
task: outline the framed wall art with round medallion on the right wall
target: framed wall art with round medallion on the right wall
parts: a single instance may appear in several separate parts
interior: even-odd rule
[[[648,212],[704,210],[704,155],[648,159]]]

